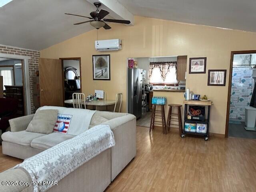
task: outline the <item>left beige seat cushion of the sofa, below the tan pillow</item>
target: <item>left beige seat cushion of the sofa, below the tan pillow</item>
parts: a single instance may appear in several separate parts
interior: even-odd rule
[[[42,137],[45,134],[43,133],[34,133],[28,131],[17,131],[10,132],[7,131],[2,134],[2,140],[10,143],[16,143],[24,146],[30,146],[30,143],[33,139]]]

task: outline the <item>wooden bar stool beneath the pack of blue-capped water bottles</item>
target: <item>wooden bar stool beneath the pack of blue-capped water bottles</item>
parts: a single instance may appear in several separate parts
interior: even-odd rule
[[[157,105],[161,107],[161,110],[156,110]],[[164,105],[160,105],[160,104],[153,105],[149,133],[151,132],[151,129],[154,129],[155,125],[160,125],[160,124],[155,124],[155,123],[162,123],[162,125],[160,125],[160,126],[162,126],[162,128],[163,128],[163,134],[166,134],[166,130],[165,130],[166,121],[165,121]],[[162,119],[162,121],[155,121],[155,118]]]

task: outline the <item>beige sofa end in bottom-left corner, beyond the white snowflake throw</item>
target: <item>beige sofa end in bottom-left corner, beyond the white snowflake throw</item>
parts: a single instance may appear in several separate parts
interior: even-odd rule
[[[14,185],[3,185],[3,181],[14,181],[17,184]],[[25,186],[20,185],[19,182],[32,182],[30,175],[22,168],[8,169],[0,173],[0,192],[33,192],[33,185]]]

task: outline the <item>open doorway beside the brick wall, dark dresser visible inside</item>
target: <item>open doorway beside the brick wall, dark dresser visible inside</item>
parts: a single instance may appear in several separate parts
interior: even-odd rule
[[[9,119],[26,115],[23,60],[0,57],[0,129],[5,132]]]

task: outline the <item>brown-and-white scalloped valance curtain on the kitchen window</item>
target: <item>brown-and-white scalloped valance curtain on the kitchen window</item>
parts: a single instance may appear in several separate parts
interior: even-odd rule
[[[150,62],[149,64],[149,79],[152,75],[154,68],[159,68],[161,77],[163,81],[166,79],[166,74],[170,71],[171,68],[177,70],[177,61],[168,61],[168,62]]]

